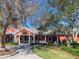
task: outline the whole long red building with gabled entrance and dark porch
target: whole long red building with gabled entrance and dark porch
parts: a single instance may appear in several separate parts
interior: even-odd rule
[[[18,44],[21,43],[48,43],[52,42],[54,43],[57,40],[60,40],[62,42],[67,37],[70,37],[70,35],[49,35],[49,34],[35,34],[32,30],[18,26],[18,28],[14,28],[14,26],[9,26],[9,28],[6,29],[6,42],[15,42]],[[79,35],[77,37],[77,42],[79,43]]]

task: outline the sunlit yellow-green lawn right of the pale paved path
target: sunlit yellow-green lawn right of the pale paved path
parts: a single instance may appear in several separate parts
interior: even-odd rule
[[[59,48],[33,48],[33,52],[43,59],[74,59],[75,57]]]

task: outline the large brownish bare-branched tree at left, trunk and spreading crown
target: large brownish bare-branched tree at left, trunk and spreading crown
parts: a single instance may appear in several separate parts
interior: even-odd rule
[[[0,7],[0,42],[1,48],[5,49],[6,28],[20,24],[21,20],[32,15],[36,5],[31,5],[31,0],[0,0]]]

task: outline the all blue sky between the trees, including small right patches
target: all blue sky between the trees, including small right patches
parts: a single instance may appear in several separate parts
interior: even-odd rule
[[[53,1],[53,0],[50,0],[50,2]],[[33,21],[34,20],[37,20],[38,17],[42,16],[43,13],[46,13],[47,15],[48,14],[59,14],[59,11],[57,8],[55,7],[50,7],[48,4],[47,4],[47,0],[32,0],[32,3],[36,3],[37,4],[37,9],[35,10],[34,14],[32,16],[29,16],[26,18],[25,21],[23,21],[23,25],[24,26],[27,26],[29,28],[33,28]],[[79,10],[77,12],[75,12],[74,14],[74,18],[77,20],[78,17],[79,17]],[[75,19],[73,20],[73,23],[75,24]],[[63,21],[64,20],[64,21]],[[59,21],[59,24],[63,24],[64,26],[68,26],[68,22],[67,22],[68,19],[66,19],[66,17],[63,17],[61,19],[61,21]]]

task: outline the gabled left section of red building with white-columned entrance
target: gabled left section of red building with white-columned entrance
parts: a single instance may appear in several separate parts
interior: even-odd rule
[[[15,42],[15,43],[28,43],[31,44],[33,41],[33,33],[30,29],[18,26],[10,26],[6,29],[6,42]]]

